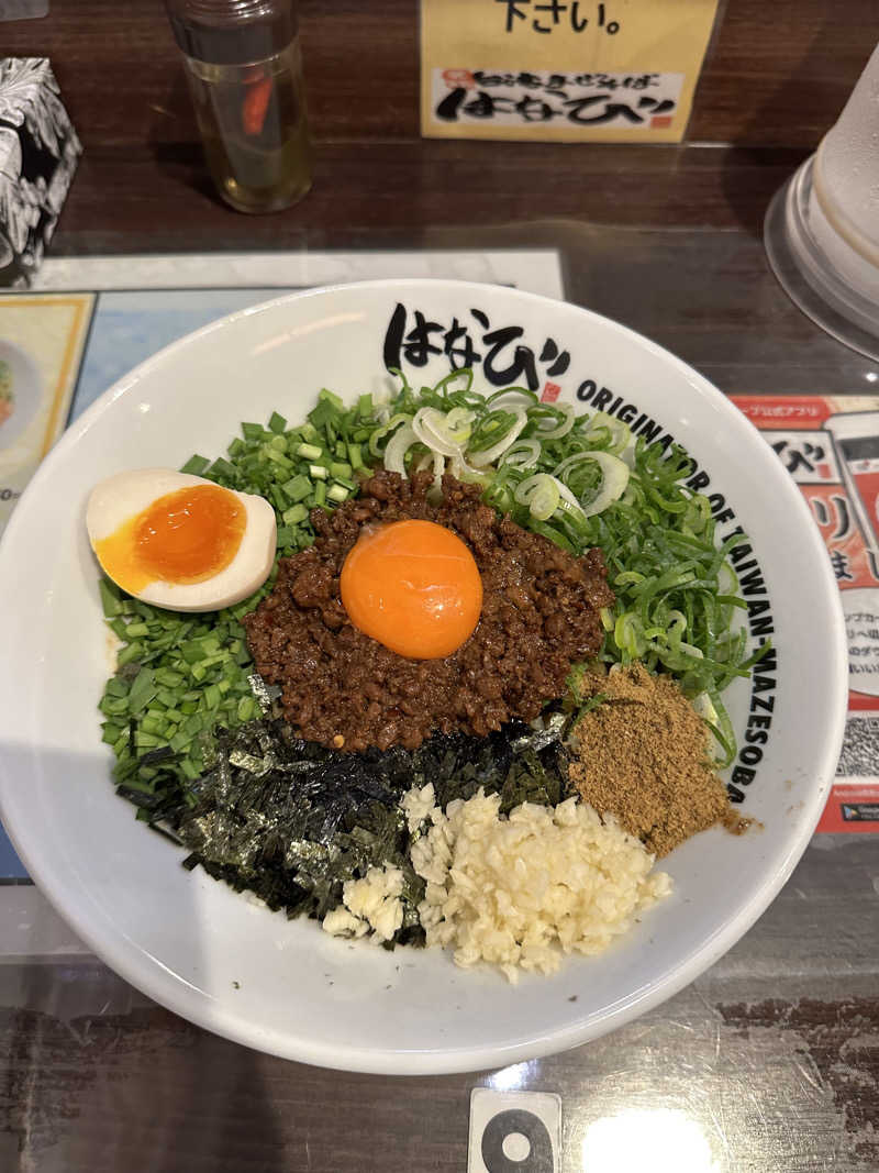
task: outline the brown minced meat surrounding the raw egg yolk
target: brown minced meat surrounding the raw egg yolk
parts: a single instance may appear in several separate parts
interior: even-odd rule
[[[601,644],[613,603],[600,550],[577,558],[481,502],[478,486],[430,474],[376,473],[332,513],[315,509],[314,544],[281,560],[272,594],[245,618],[260,676],[281,686],[300,737],[352,752],[416,748],[434,732],[485,737],[532,720],[565,691],[571,665]],[[364,526],[417,517],[447,526],[473,554],[483,606],[472,636],[444,659],[406,659],[359,631],[339,594],[346,555]]]

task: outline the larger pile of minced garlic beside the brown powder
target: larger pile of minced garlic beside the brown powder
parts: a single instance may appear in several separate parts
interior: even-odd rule
[[[454,949],[458,965],[489,962],[511,982],[520,970],[554,972],[566,954],[605,950],[672,890],[636,839],[575,798],[524,802],[509,818],[499,807],[482,791],[434,807],[411,847],[427,881],[427,943]]]

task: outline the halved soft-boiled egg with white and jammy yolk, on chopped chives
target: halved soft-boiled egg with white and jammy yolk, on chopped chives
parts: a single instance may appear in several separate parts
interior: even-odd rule
[[[89,495],[86,528],[109,578],[175,611],[240,603],[274,563],[274,509],[266,500],[169,468],[101,481]]]

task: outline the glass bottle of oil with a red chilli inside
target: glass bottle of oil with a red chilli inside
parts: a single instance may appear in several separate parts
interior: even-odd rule
[[[288,208],[312,185],[291,0],[166,0],[207,169],[241,212]]]

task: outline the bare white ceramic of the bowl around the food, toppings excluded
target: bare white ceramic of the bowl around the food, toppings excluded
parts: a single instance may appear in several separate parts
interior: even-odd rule
[[[420,331],[418,312],[437,328]],[[750,598],[777,653],[755,693],[757,739],[738,764],[754,771],[742,809],[762,826],[741,838],[697,835],[663,861],[674,895],[619,945],[517,986],[456,969],[438,951],[332,938],[184,870],[182,852],[115,796],[100,743],[95,706],[109,655],[83,523],[91,486],[124,468],[218,454],[240,420],[265,421],[275,409],[302,418],[320,387],[345,396],[379,391],[383,351],[396,357],[389,324],[403,316],[404,335],[415,331],[402,354],[413,380],[448,371],[442,353],[422,355],[417,344],[442,351],[457,319],[479,354],[477,382],[485,385],[486,361],[497,372],[525,346],[540,387],[558,385],[561,401],[593,407],[607,388],[606,407],[632,404],[633,422],[645,413],[686,445],[710,476],[706,491],[735,511],[721,531],[741,524],[750,536],[755,585],[765,588]],[[506,327],[522,333],[502,334],[504,346],[484,340]],[[422,357],[428,366],[413,364]],[[574,1046],[693,981],[759,916],[805,848],[846,700],[841,610],[825,550],[798,489],[736,408],[615,323],[456,282],[281,298],[205,327],[122,379],[73,425],[13,514],[0,547],[0,646],[2,820],[80,936],[134,985],[210,1030],[305,1063],[387,1073],[478,1070]],[[728,697],[744,747],[750,682]]]

